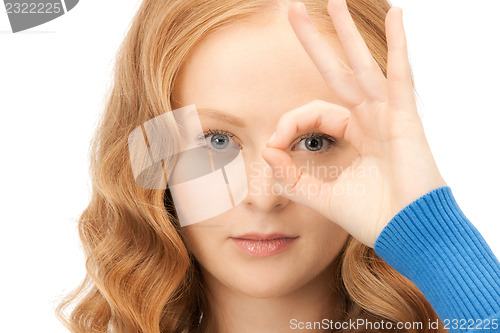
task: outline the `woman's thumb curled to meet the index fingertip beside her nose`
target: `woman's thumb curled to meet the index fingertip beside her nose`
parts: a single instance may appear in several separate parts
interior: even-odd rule
[[[273,192],[327,215],[334,182],[322,181],[297,168],[290,155],[281,149],[266,147],[262,157],[271,167],[276,180]]]

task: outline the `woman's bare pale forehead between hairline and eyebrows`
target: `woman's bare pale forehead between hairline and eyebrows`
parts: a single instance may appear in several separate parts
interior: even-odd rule
[[[197,44],[175,82],[173,106],[233,110],[259,120],[279,117],[313,99],[335,102],[286,13],[274,15],[229,24]],[[324,37],[345,61],[336,36]]]

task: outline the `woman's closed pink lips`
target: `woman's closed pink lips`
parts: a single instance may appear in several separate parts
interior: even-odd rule
[[[231,237],[231,240],[247,255],[266,257],[286,250],[297,238],[299,236],[252,233]]]

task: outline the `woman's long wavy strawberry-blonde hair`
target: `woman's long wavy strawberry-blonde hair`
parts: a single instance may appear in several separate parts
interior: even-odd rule
[[[303,2],[317,28],[334,34],[327,0]],[[384,21],[390,4],[347,3],[386,75]],[[127,140],[134,128],[172,110],[176,75],[200,40],[231,22],[273,14],[286,5],[285,0],[142,2],[117,53],[113,84],[92,140],[92,196],[78,222],[87,274],[55,309],[71,332],[217,332],[199,264],[181,237],[169,190],[136,185]],[[426,327],[438,320],[431,305],[372,248],[349,236],[331,266],[331,286],[344,298],[339,305],[344,320],[422,322],[421,329],[400,332],[446,332]]]

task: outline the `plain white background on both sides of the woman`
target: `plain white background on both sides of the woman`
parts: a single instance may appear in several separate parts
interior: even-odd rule
[[[500,2],[395,0],[440,171],[500,257]],[[2,331],[67,332],[57,297],[84,277],[76,221],[88,148],[138,0],[84,0],[12,34],[0,5]]]

